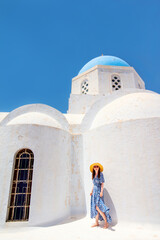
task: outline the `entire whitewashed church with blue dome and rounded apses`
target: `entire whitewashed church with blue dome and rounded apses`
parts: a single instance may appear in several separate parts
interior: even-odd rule
[[[160,225],[160,94],[118,57],[80,70],[65,114],[45,104],[0,113],[0,226],[90,217],[94,162],[113,225]]]

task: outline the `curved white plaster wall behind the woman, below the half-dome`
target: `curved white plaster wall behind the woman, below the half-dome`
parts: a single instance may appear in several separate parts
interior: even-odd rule
[[[117,122],[83,136],[87,214],[92,187],[89,166],[104,166],[104,196],[113,222],[160,224],[160,118]]]

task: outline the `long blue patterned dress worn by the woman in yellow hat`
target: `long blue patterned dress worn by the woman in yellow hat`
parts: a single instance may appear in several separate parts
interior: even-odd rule
[[[91,195],[91,212],[90,212],[91,218],[96,217],[98,213],[98,211],[96,210],[96,205],[97,205],[99,209],[105,213],[107,222],[111,223],[112,218],[109,215],[110,208],[107,207],[104,203],[104,195],[100,197],[101,183],[105,182],[103,173],[100,172],[100,178],[98,178],[98,175],[97,175],[96,177],[94,177],[92,181],[93,181],[94,187],[93,187],[93,193]],[[100,221],[103,220],[103,217],[101,216],[101,214],[99,214],[99,220]]]

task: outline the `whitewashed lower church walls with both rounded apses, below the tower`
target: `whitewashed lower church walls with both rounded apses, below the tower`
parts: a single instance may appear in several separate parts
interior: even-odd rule
[[[90,215],[93,162],[104,166],[105,202],[113,223],[160,224],[160,95],[139,89],[124,96],[119,91],[98,99],[84,118],[64,115],[31,104],[3,116],[0,225],[7,218],[14,156],[22,148],[34,153],[27,225]]]

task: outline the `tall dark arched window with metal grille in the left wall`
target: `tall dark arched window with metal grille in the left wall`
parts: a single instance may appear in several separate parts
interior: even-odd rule
[[[31,199],[34,155],[29,149],[20,150],[14,161],[12,188],[7,221],[27,221]]]

